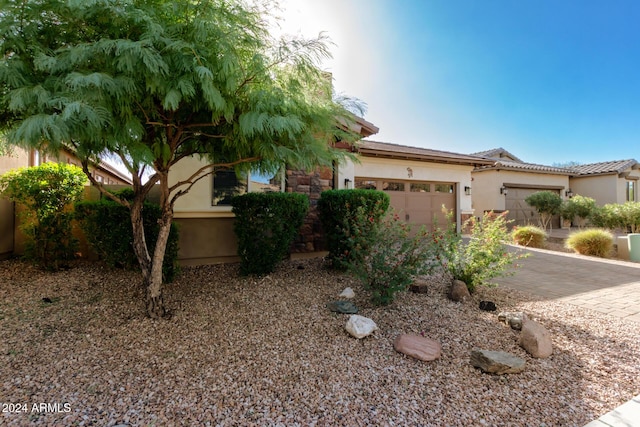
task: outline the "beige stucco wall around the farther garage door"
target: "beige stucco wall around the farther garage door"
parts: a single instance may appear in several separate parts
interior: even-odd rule
[[[500,194],[500,187],[505,183],[531,185],[534,188],[537,186],[569,188],[569,177],[566,175],[506,170],[476,171],[471,175],[473,177],[471,186],[473,208],[476,216],[482,215],[484,211],[505,209],[505,196]]]

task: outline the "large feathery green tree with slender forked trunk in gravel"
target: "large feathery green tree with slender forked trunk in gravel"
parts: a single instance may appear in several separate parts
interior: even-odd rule
[[[329,165],[346,155],[329,142],[357,137],[346,103],[331,99],[318,68],[329,56],[326,37],[275,41],[267,14],[240,0],[3,4],[0,126],[15,145],[72,147],[91,182],[130,209],[152,318],[165,314],[162,260],[173,207],[196,182],[224,168]],[[131,173],[132,201],[89,174],[105,154]],[[190,156],[206,165],[170,184],[169,172]],[[162,216],[150,248],[142,209],[154,186]]]

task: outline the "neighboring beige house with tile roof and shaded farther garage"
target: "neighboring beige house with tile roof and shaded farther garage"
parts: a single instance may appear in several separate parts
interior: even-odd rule
[[[473,179],[473,208],[476,216],[483,212],[508,210],[513,225],[537,224],[538,214],[524,200],[538,191],[552,191],[563,199],[571,195],[570,177],[575,172],[554,166],[526,163],[504,148],[473,153],[492,160],[492,164],[476,167]],[[552,227],[560,227],[559,216]]]

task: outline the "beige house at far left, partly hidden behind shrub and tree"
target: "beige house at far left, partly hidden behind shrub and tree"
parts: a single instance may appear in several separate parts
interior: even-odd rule
[[[36,150],[14,148],[11,155],[0,156],[0,175],[11,169],[37,166],[45,162],[69,163],[80,166],[80,160],[71,150],[64,150],[58,156],[43,155]],[[90,167],[96,180],[109,185],[131,185],[131,180],[111,165],[101,163]],[[21,251],[21,239],[16,233],[14,204],[0,198],[0,259]]]

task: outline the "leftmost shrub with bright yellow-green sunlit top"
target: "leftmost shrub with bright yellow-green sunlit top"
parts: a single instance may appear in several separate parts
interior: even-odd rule
[[[21,230],[25,256],[50,270],[66,267],[77,242],[71,232],[69,206],[82,195],[87,179],[73,165],[45,163],[13,169],[0,177],[0,190],[24,205]]]

